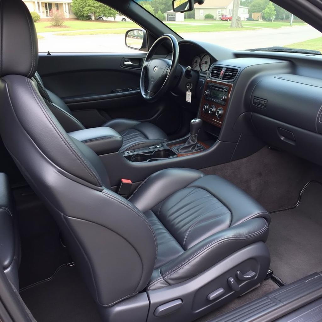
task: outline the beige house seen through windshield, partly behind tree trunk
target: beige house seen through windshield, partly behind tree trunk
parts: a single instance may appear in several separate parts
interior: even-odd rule
[[[204,4],[195,4],[194,19],[203,20],[205,14],[212,14],[216,20],[220,20],[223,14],[232,15],[233,0],[205,0]],[[249,17],[249,7],[239,6],[238,15],[242,20]]]

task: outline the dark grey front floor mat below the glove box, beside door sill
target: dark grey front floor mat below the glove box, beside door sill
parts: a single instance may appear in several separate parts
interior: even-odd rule
[[[285,283],[322,270],[322,184],[309,183],[297,207],[271,214],[270,268]]]

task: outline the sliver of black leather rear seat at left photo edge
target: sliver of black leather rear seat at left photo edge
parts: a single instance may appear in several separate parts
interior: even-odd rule
[[[0,172],[0,263],[7,278],[19,289],[20,240],[8,177]]]

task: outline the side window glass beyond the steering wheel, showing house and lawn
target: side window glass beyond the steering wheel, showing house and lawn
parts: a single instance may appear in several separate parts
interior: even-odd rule
[[[125,45],[128,29],[140,28],[107,5],[83,0],[26,0],[38,35],[39,52],[137,52]]]

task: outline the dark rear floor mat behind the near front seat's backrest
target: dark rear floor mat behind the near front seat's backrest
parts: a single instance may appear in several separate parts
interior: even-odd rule
[[[96,304],[75,266],[20,292],[37,322],[101,322]]]

